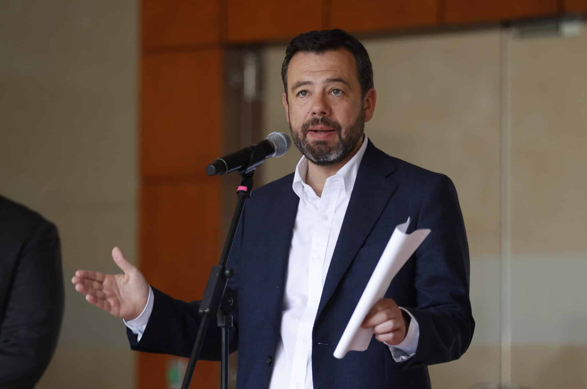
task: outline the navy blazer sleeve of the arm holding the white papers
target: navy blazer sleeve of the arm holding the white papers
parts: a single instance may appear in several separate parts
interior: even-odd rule
[[[453,182],[438,175],[424,199],[417,228],[431,229],[416,250],[416,308],[420,326],[416,354],[406,367],[455,360],[467,350],[475,321],[469,300],[469,251]]]

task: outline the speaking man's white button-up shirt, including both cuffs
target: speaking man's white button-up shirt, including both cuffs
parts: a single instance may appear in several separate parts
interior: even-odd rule
[[[312,187],[305,182],[308,160],[302,157],[296,166],[292,189],[299,197],[299,205],[289,249],[281,338],[275,352],[269,389],[313,389],[312,328],[332,253],[366,148],[365,136],[359,151],[335,175],[326,179],[321,197],[316,196]],[[153,310],[153,299],[150,291],[143,313],[134,320],[124,322],[137,334],[138,340]],[[397,346],[389,346],[396,362],[405,361],[414,355],[419,335],[418,323],[411,316],[406,338]]]

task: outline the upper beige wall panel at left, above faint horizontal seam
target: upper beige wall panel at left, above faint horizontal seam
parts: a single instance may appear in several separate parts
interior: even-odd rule
[[[0,192],[40,210],[134,199],[134,3],[13,3],[0,12]]]

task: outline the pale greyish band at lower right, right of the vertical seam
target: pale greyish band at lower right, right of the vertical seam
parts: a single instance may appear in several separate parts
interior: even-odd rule
[[[587,253],[528,251],[511,257],[512,344],[587,346]]]

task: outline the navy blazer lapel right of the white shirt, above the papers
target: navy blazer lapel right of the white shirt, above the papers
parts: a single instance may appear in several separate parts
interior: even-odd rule
[[[316,318],[332,297],[357,251],[392,197],[397,187],[390,177],[394,170],[392,158],[373,146],[369,140],[326,274]]]

